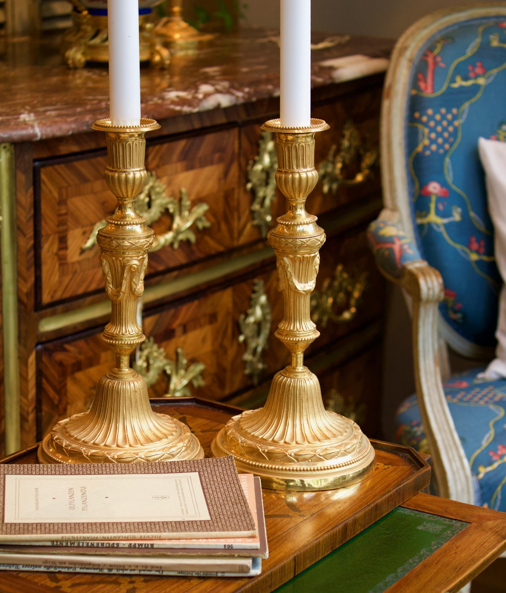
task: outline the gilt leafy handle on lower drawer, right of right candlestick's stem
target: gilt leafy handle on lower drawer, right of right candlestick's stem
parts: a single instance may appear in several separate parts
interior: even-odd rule
[[[332,278],[326,278],[321,291],[311,296],[311,318],[326,327],[329,321],[346,323],[357,314],[363,292],[367,286],[367,272],[348,273],[339,264]]]

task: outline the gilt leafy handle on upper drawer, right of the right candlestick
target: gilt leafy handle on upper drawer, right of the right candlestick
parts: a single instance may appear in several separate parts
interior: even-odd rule
[[[372,168],[377,161],[377,150],[363,144],[360,133],[348,120],[342,129],[338,152],[337,145],[332,145],[328,157],[318,167],[322,182],[322,192],[335,195],[339,186],[356,186],[372,176]],[[346,168],[358,165],[358,173],[346,177]]]

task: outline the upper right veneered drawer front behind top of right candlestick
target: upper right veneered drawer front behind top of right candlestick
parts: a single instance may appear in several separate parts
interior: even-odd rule
[[[374,87],[312,109],[312,116],[324,119],[331,129],[316,134],[319,181],[309,197],[308,212],[328,212],[379,190],[381,95],[382,88]],[[274,136],[262,133],[258,123],[241,129],[240,162],[240,234],[242,241],[251,241],[265,236],[276,218],[286,212],[286,199],[274,183]]]

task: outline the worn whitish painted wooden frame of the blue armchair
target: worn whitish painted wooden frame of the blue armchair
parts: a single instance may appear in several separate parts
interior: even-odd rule
[[[471,18],[490,16],[504,16],[506,20],[506,3],[434,12],[406,30],[393,50],[383,91],[381,154],[385,209],[380,218],[397,224],[408,237],[414,237],[414,228],[409,210],[404,127],[412,64],[418,50],[441,29]],[[489,360],[491,352],[465,342],[444,322],[438,313],[438,303],[443,299],[443,280],[427,262],[420,260],[406,264],[400,278],[385,276],[401,285],[405,294],[411,297],[418,405],[440,495],[473,504],[469,462],[443,390],[443,380],[449,374],[447,344],[469,358]]]

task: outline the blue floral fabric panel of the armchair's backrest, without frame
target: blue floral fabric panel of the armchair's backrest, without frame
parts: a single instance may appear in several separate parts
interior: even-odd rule
[[[506,141],[506,21],[463,21],[418,52],[406,97],[406,171],[419,252],[446,288],[444,320],[493,346],[495,266],[478,138]]]

